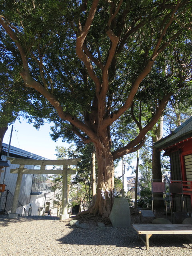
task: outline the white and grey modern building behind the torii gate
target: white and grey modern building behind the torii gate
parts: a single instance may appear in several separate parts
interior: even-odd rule
[[[8,145],[2,144],[1,160],[7,161]],[[21,150],[14,146],[10,146],[10,157],[15,158],[26,158],[26,159],[36,159],[36,160],[46,160],[42,156],[32,154],[25,150]],[[0,192],[0,212],[10,213],[12,207],[12,201],[14,197],[14,191],[16,186],[16,180],[18,174],[10,173],[10,169],[19,168],[17,164],[10,164],[10,167],[2,169],[0,173],[0,184],[3,184],[5,180],[5,190]],[[40,169],[39,166],[25,166],[27,169]],[[47,183],[47,177],[44,174],[23,174],[22,184],[19,194],[19,202],[17,212],[20,216],[26,215],[42,215],[44,212],[48,212],[50,208],[53,207],[53,203],[50,193],[50,184]],[[46,194],[46,197],[45,197]],[[54,194],[54,193],[52,193]]]

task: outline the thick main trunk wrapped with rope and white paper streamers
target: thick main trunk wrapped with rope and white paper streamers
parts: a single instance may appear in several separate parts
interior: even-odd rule
[[[95,148],[98,163],[97,197],[90,213],[105,219],[109,218],[114,201],[114,162],[107,139],[97,143]]]

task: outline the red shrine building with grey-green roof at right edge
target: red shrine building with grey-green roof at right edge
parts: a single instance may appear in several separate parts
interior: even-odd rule
[[[154,147],[164,150],[164,155],[170,157],[171,183],[180,181],[182,184],[182,193],[174,195],[175,210],[192,212],[192,116]]]

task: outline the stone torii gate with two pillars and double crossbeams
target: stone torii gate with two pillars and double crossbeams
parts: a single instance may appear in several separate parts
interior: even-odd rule
[[[68,174],[76,174],[76,171],[68,168],[68,165],[76,165],[77,162],[81,160],[81,158],[74,159],[64,159],[64,160],[36,160],[36,159],[21,159],[21,158],[10,158],[11,164],[19,164],[19,168],[11,169],[10,173],[17,173],[17,182],[15,187],[15,193],[11,208],[11,213],[8,214],[8,218],[18,218],[18,213],[16,213],[20,186],[22,182],[23,174],[62,174],[63,175],[63,190],[62,190],[62,214],[60,215],[60,220],[65,220],[69,218],[69,214],[67,211],[67,175]],[[39,165],[40,170],[30,170],[24,168],[25,165]],[[62,165],[62,170],[45,170],[46,165]]]

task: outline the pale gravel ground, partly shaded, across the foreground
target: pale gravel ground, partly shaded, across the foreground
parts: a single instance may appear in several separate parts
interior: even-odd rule
[[[149,251],[130,228],[70,227],[69,220],[0,216],[0,256],[191,256],[192,235],[154,235]]]

